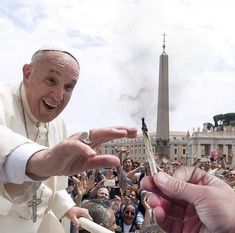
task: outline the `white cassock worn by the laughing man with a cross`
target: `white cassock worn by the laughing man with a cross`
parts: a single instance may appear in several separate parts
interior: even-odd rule
[[[21,88],[20,85],[0,86],[0,231],[4,233],[37,233],[43,218],[46,230],[41,229],[41,232],[63,232],[58,219],[75,205],[65,190],[66,177],[52,177],[43,183],[27,181],[23,184],[3,184],[2,166],[7,156],[19,145],[34,141],[52,147],[67,137],[61,117],[44,124],[40,129],[38,124],[30,113],[23,85]],[[34,223],[30,201],[35,194],[40,204]]]

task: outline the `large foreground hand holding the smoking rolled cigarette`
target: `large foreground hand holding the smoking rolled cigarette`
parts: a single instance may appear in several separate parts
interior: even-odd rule
[[[166,232],[234,232],[235,194],[213,175],[179,167],[173,177],[159,172],[144,177],[141,187],[152,192],[148,203]]]

